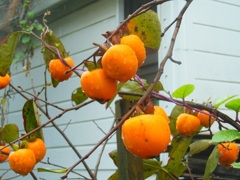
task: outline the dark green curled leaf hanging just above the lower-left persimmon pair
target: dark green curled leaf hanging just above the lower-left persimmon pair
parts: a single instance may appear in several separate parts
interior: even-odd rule
[[[22,116],[24,120],[24,129],[27,133],[31,132],[41,125],[40,115],[37,111],[37,106],[33,99],[28,100],[24,104],[22,109]],[[36,131],[32,135],[36,138],[43,139],[42,129]]]

